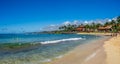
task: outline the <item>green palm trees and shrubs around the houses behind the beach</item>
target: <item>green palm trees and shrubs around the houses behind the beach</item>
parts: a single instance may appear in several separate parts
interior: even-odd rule
[[[81,24],[81,25],[64,25],[60,26],[58,32],[78,32],[76,29],[80,26],[84,26],[85,30],[84,32],[92,31],[92,32],[99,32],[99,27],[103,27],[104,32],[113,32],[118,33],[120,31],[120,16],[116,18],[116,20],[111,20],[110,22],[101,24],[101,23],[91,23],[91,24]],[[111,26],[110,30],[108,31],[107,28]]]

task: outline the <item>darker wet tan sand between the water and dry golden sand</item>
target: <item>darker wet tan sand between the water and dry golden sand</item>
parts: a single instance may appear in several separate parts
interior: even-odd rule
[[[108,39],[110,37],[80,45],[62,58],[45,64],[106,64],[106,53],[103,45]]]

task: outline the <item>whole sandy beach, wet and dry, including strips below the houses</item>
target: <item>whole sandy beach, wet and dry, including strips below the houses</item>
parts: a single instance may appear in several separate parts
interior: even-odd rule
[[[64,57],[46,64],[120,64],[120,35],[80,45]]]

